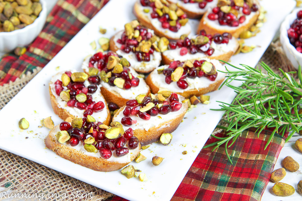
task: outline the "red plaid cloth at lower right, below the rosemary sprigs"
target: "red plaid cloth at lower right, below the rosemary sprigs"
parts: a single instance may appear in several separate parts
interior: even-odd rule
[[[284,145],[282,137],[275,135],[264,150],[270,133],[263,131],[259,138],[252,130],[241,133],[228,148],[233,165],[226,157],[224,146],[213,152],[212,147],[202,149],[171,201],[259,201]],[[215,141],[210,137],[206,145]],[[107,200],[126,201],[119,196]]]

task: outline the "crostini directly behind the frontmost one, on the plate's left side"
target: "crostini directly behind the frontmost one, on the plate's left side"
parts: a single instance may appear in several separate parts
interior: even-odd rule
[[[89,77],[83,72],[57,73],[49,82],[53,111],[63,120],[93,114],[96,121],[109,125],[111,115],[99,84],[98,76]]]

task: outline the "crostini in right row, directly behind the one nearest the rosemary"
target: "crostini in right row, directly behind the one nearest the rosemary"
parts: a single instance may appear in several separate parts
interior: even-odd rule
[[[207,57],[228,61],[236,52],[239,43],[230,33],[206,34],[204,30],[191,38],[185,37],[169,43],[169,49],[162,52],[162,63],[172,61],[200,60]]]

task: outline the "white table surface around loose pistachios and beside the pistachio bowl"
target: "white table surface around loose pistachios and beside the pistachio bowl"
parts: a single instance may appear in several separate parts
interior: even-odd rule
[[[45,0],[47,3],[47,13],[49,13],[51,11],[51,9],[53,8],[53,6],[56,4],[55,0]],[[291,156],[293,157],[299,164],[300,164],[300,169],[296,172],[289,172],[286,171],[286,176],[284,177],[283,180],[281,180],[280,182],[284,182],[287,184],[292,185],[296,192],[294,193],[294,195],[292,196],[288,196],[288,197],[278,197],[275,196],[274,193],[272,193],[271,191],[271,187],[274,185],[274,183],[269,182],[265,192],[262,195],[262,201],[266,201],[266,200],[271,200],[271,201],[278,201],[278,200],[283,200],[283,201],[287,201],[287,200],[302,200],[302,196],[299,195],[297,193],[297,183],[302,180],[302,154],[300,152],[298,152],[295,147],[294,147],[294,143],[297,139],[302,138],[302,136],[299,136],[298,134],[296,134],[295,136],[293,136],[291,138],[291,140],[288,143],[285,143],[284,147],[281,149],[280,155],[278,157],[278,160],[276,162],[275,165],[275,169],[281,168],[281,162],[282,160],[286,157],[286,156]]]

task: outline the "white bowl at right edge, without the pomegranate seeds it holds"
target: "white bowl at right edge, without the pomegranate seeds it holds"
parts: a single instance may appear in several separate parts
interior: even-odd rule
[[[284,50],[285,55],[291,61],[294,68],[298,69],[298,66],[302,66],[302,53],[298,52],[296,48],[289,42],[287,30],[291,27],[294,20],[297,19],[298,11],[302,8],[296,8],[291,12],[285,20],[282,22],[280,27],[280,42]]]

